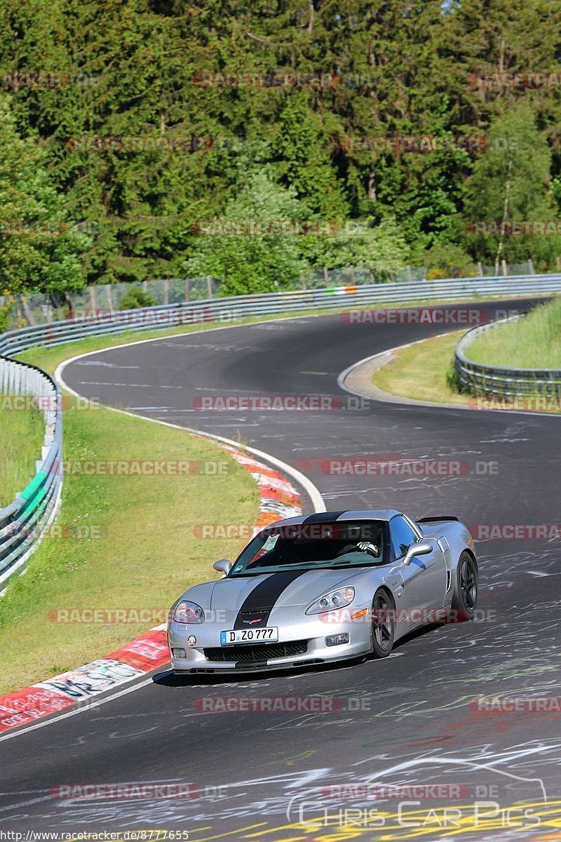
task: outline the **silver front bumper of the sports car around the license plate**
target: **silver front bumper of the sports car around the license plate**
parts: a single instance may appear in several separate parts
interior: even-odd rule
[[[360,606],[355,609],[359,610]],[[290,612],[294,615],[294,611]],[[313,665],[315,663],[331,663],[333,661],[346,660],[347,658],[357,658],[368,654],[371,651],[371,637],[369,622],[331,622],[324,619],[320,620],[320,615],[306,616],[302,612],[302,616],[298,621],[292,621],[278,616],[270,618],[270,626],[278,626],[278,643],[256,643],[243,644],[246,647],[258,647],[259,659],[257,661],[248,661],[246,659],[236,658],[236,649],[238,652],[241,647],[220,646],[220,632],[227,631],[234,627],[236,616],[231,617],[230,623],[228,621],[204,622],[198,625],[187,625],[185,623],[170,622],[167,630],[170,653],[172,654],[172,669],[177,673],[241,673],[246,671],[270,671],[272,669],[287,669],[290,667],[303,667],[306,665]],[[339,634],[348,635],[348,643],[340,643],[336,646],[328,646],[325,642],[326,637],[331,637]],[[196,638],[196,642],[188,642],[189,637]],[[279,644],[306,642],[305,651],[299,651],[295,654],[289,654],[285,657],[268,657],[275,653],[273,650],[279,648]],[[271,648],[267,652],[267,647]],[[185,658],[176,658],[173,654],[174,649],[184,649],[186,653]],[[301,648],[301,647],[300,647]],[[225,661],[211,660],[205,654],[205,649],[220,649],[220,654],[231,653],[231,658]],[[267,655],[267,657],[262,657]]]

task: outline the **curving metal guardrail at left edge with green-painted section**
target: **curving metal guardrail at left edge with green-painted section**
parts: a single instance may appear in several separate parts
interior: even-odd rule
[[[62,487],[62,413],[56,382],[34,365],[0,357],[0,395],[14,410],[27,411],[33,405],[45,416],[45,439],[35,476],[13,504],[0,509],[2,584],[22,567],[56,515]]]

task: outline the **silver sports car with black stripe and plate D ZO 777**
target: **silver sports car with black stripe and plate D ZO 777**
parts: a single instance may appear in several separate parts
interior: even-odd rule
[[[395,509],[279,520],[223,577],[170,611],[177,673],[270,670],[373,655],[423,624],[474,616],[474,541],[454,517],[416,522]]]

